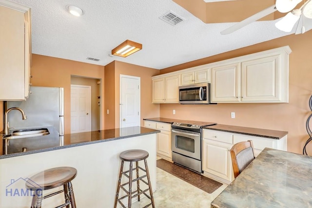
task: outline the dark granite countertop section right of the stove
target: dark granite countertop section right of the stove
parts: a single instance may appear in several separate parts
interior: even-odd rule
[[[287,131],[277,131],[277,130],[269,130],[269,129],[262,129],[262,128],[251,128],[251,127],[222,125],[222,124],[206,126],[204,128],[218,130],[218,131],[226,131],[226,132],[231,132],[231,133],[251,135],[251,136],[256,136],[256,137],[265,137],[265,138],[270,138],[270,139],[281,139],[288,134]]]

